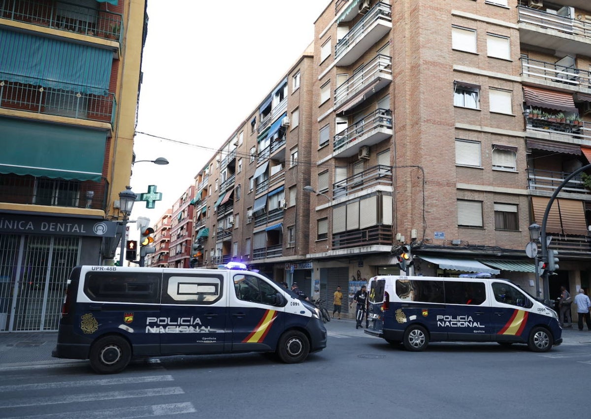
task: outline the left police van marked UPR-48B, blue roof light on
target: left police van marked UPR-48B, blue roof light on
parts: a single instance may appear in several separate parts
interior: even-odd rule
[[[52,355],[116,373],[134,357],[276,352],[296,363],[324,347],[317,308],[241,264],[82,266],[70,274]]]

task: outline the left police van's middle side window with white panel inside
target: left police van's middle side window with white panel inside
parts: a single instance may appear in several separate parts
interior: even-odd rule
[[[223,277],[172,275],[164,280],[163,304],[208,305],[223,295]]]

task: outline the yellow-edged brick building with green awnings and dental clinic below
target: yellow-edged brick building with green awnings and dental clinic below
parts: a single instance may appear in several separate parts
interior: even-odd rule
[[[0,2],[0,330],[57,330],[69,272],[113,260],[145,2]]]

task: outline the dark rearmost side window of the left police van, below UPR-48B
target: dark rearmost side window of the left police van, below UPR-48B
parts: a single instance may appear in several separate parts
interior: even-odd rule
[[[86,274],[84,293],[93,301],[160,303],[160,275],[125,272]]]

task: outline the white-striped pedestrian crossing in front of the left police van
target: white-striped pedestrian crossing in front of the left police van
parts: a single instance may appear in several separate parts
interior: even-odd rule
[[[172,375],[162,368],[144,371],[108,377],[93,375],[85,368],[66,368],[59,374],[51,368],[12,371],[0,385],[0,417],[123,419],[196,412]]]

